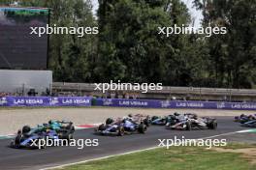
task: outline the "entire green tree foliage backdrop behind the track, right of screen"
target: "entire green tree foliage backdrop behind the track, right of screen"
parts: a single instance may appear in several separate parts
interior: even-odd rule
[[[3,1],[2,3],[15,2]],[[169,86],[251,88],[256,82],[256,1],[194,0],[202,25],[226,35],[158,34],[158,27],[191,25],[181,0],[19,0],[51,9],[50,24],[95,26],[99,35],[51,35],[49,69],[55,81],[162,82]]]

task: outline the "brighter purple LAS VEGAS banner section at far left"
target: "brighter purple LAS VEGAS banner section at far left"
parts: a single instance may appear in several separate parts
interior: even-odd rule
[[[87,97],[4,97],[0,106],[91,106]]]

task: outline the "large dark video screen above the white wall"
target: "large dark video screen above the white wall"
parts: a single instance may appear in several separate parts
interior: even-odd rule
[[[0,69],[47,69],[48,35],[30,34],[30,27],[46,27],[48,14],[48,9],[0,7]]]

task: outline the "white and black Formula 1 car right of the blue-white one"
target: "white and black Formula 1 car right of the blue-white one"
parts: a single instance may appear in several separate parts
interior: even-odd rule
[[[197,118],[191,119],[188,118],[187,120],[180,121],[175,125],[167,124],[166,128],[171,129],[216,129],[217,128],[217,121],[213,118]]]

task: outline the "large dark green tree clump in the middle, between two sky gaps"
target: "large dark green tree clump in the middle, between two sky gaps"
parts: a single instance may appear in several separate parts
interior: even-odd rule
[[[190,42],[196,38],[158,34],[158,27],[190,23],[182,2],[101,0],[98,16],[99,77],[105,81],[190,83],[194,76],[190,64],[197,60]]]

